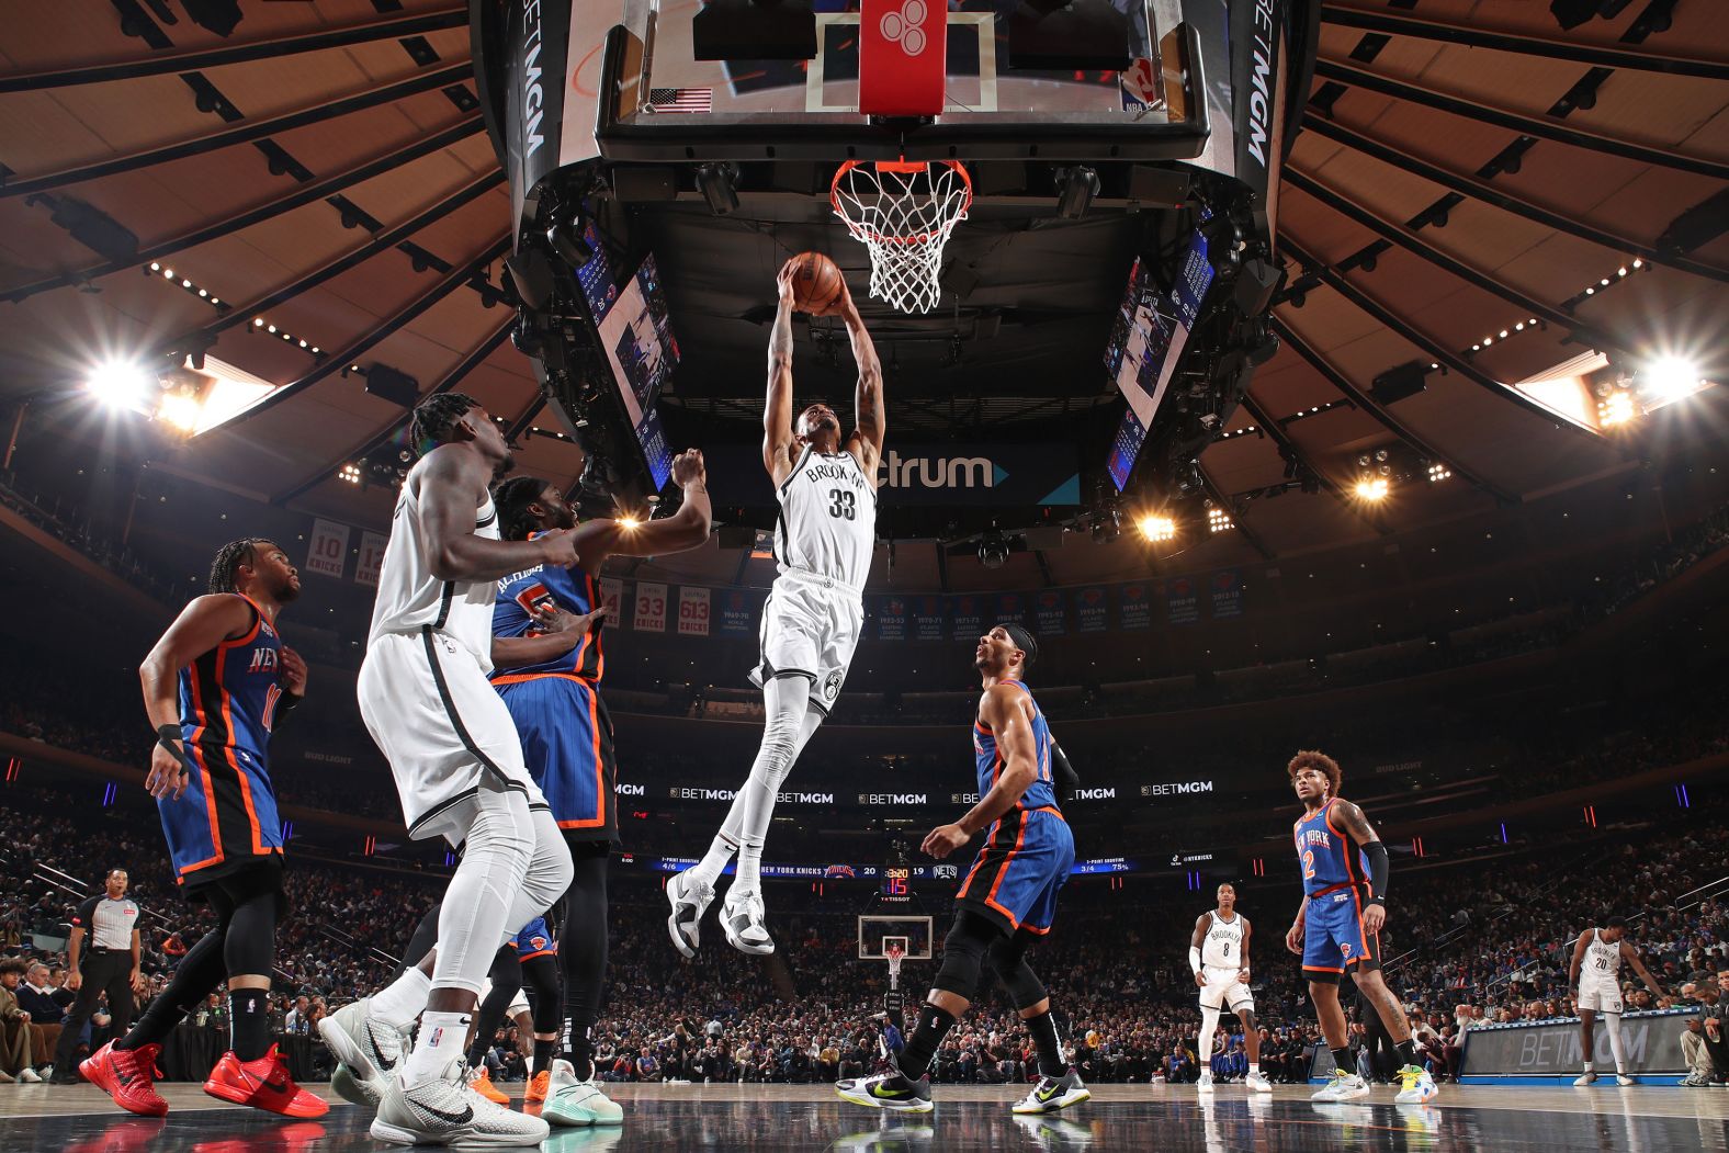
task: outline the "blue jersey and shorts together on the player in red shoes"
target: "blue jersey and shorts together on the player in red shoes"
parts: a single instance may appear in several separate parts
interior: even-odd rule
[[[156,802],[182,885],[282,852],[270,729],[282,700],[282,640],[251,598],[252,624],[180,669],[180,736],[190,783]]]

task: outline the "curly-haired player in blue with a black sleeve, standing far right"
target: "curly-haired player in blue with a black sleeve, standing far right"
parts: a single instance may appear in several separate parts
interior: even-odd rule
[[[1369,1096],[1357,1075],[1357,1060],[1345,1032],[1345,1010],[1338,1004],[1338,978],[1350,973],[1364,999],[1375,1006],[1399,1051],[1399,1096],[1402,1105],[1421,1105],[1435,1096],[1435,1080],[1416,1060],[1411,1023],[1399,997],[1381,978],[1381,925],[1387,923],[1387,845],[1369,828],[1362,809],[1338,795],[1343,773],[1324,752],[1298,752],[1286,766],[1302,819],[1297,821],[1297,864],[1302,868],[1304,899],[1297,921],[1285,933],[1285,947],[1302,956],[1302,973],[1321,1018],[1321,1035],[1333,1051],[1333,1079],[1316,1101],[1352,1101]]]

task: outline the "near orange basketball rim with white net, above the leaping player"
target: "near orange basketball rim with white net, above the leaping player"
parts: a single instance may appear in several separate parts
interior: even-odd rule
[[[870,294],[903,313],[935,308],[942,247],[972,204],[972,178],[960,161],[847,161],[828,199],[870,249]]]

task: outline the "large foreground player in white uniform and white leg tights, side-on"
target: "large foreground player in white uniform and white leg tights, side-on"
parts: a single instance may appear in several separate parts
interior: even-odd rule
[[[508,472],[510,446],[472,398],[424,399],[412,436],[424,455],[391,520],[360,667],[360,714],[391,762],[408,835],[443,835],[462,847],[462,863],[444,892],[431,973],[405,973],[424,975],[424,996],[392,994],[382,1022],[406,1029],[425,1010],[413,1053],[386,1079],[372,1136],[396,1144],[539,1144],[545,1120],[469,1087],[463,1046],[505,933],[545,913],[571,883],[571,850],[522,761],[510,710],[486,679],[494,583],[534,565],[567,569],[576,543],[564,529],[500,539],[488,486]],[[358,1075],[387,1072],[373,1060],[382,1053],[372,1008],[356,1001],[320,1023]]]

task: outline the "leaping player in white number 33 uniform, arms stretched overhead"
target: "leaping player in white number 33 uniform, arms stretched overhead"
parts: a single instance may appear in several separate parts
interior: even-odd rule
[[[666,885],[667,930],[685,956],[697,956],[702,913],[733,852],[738,873],[721,909],[721,932],[742,952],[775,951],[762,911],[762,838],[775,797],[816,726],[840,695],[864,619],[864,577],[877,539],[877,462],[882,456],[882,365],[845,283],[828,311],[839,313],[858,361],[858,427],[842,441],[840,418],[811,405],[792,418],[792,296],[797,259],[780,270],[780,311],[768,347],[768,406],[762,465],[775,481],[780,576],[762,605],[762,662],[750,679],[762,686],[766,724],[750,778],[702,861]]]

